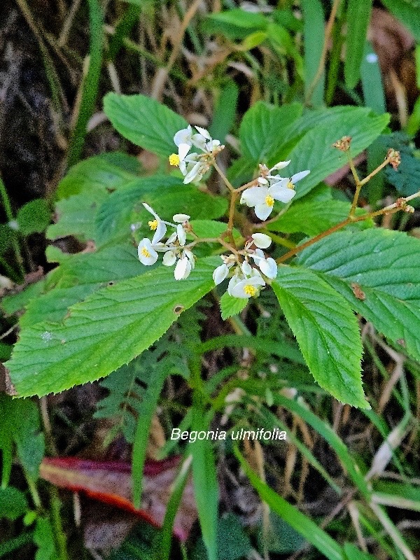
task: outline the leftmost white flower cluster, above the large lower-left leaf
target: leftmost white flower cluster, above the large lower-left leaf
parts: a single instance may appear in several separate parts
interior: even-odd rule
[[[154,265],[158,260],[158,253],[165,253],[162,263],[167,267],[175,265],[175,279],[183,280],[188,278],[195,265],[194,255],[186,247],[187,232],[190,230],[188,222],[190,216],[187,214],[175,214],[172,218],[175,223],[165,222],[160,219],[158,214],[146,202],[143,203],[143,206],[155,218],[148,223],[151,230],[155,233],[152,240],[145,237],[139,243],[137,253],[141,264],[146,266]],[[162,239],[166,235],[167,225],[174,228],[175,231],[163,243]]]

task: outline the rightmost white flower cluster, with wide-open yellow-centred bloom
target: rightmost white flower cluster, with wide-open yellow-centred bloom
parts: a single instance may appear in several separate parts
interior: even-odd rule
[[[274,175],[273,172],[279,171],[289,165],[287,162],[279,162],[271,169],[266,165],[260,165],[260,176],[257,179],[258,186],[250,187],[244,190],[241,195],[241,204],[251,207],[255,211],[255,216],[260,220],[267,220],[272,213],[274,202],[290,202],[295,196],[295,183],[306,177],[309,170],[295,173],[291,177],[280,177]]]

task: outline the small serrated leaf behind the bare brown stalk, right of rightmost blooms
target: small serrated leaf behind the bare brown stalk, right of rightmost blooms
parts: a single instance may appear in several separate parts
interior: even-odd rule
[[[297,200],[290,205],[288,211],[268,225],[268,230],[282,233],[302,232],[306,235],[318,235],[328,230],[349,216],[351,204],[341,200]],[[366,211],[358,208],[356,216],[362,216]],[[351,224],[349,227],[370,228],[372,220],[365,220]]]

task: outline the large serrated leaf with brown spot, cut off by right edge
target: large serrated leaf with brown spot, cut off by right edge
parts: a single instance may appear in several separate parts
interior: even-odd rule
[[[391,342],[420,360],[419,255],[419,239],[377,229],[337,232],[304,249],[297,260],[328,281]]]

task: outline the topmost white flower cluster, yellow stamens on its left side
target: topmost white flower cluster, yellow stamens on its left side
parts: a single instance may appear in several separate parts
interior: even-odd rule
[[[176,132],[174,142],[178,146],[178,154],[173,153],[169,156],[169,163],[179,166],[184,176],[184,183],[201,181],[204,174],[209,171],[215,155],[225,147],[220,141],[212,139],[205,128],[195,127],[195,129],[198,131],[197,134],[193,133],[190,125]],[[199,148],[201,153],[189,153],[193,146]]]

